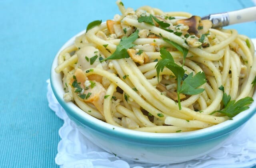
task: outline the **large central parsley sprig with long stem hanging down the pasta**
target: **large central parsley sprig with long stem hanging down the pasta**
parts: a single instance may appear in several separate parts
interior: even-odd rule
[[[194,77],[192,77],[193,74],[190,73],[182,82],[182,78],[185,74],[185,70],[182,68],[182,66],[179,66],[174,62],[172,55],[166,49],[161,48],[160,54],[162,59],[159,60],[155,66],[157,77],[159,77],[160,71],[162,72],[164,70],[164,67],[171,70],[172,73],[176,76],[178,106],[181,110],[180,93],[194,95],[203,92],[204,89],[198,87],[206,82],[205,74],[204,72],[198,72]]]

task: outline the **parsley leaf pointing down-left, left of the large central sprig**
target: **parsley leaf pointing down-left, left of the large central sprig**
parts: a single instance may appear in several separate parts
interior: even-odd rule
[[[129,37],[124,36],[121,38],[120,43],[116,46],[116,51],[111,56],[101,60],[101,62],[106,60],[129,58],[130,56],[127,53],[127,49],[135,46],[135,44],[132,43],[139,37],[138,32],[139,30],[136,30]]]

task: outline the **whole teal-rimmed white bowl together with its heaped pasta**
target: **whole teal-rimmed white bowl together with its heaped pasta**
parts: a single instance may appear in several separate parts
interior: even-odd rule
[[[130,160],[177,163],[230,140],[256,111],[250,38],[143,6],[96,20],[56,54],[54,95],[80,131]]]

